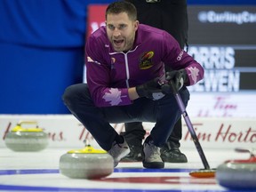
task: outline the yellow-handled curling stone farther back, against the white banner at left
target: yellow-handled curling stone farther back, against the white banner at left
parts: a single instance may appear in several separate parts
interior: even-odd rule
[[[24,124],[36,124],[34,121],[21,121],[7,132],[4,142],[7,148],[13,151],[40,151],[48,146],[49,139],[47,133],[43,129],[24,128]]]

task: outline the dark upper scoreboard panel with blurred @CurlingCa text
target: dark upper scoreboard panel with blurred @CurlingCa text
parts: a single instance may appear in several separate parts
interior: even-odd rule
[[[188,22],[190,44],[256,44],[256,6],[188,6]]]

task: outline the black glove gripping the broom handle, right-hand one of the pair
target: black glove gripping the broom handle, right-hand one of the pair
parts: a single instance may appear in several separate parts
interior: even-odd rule
[[[165,76],[167,83],[162,85],[162,91],[166,94],[174,92],[173,86],[178,92],[180,88],[188,81],[188,76],[185,69],[166,72]],[[173,86],[171,84],[171,81],[173,83]]]

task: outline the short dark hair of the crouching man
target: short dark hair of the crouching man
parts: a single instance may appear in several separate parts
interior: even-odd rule
[[[130,20],[137,20],[137,10],[136,7],[126,1],[116,1],[108,4],[105,18],[107,20],[108,14],[119,14],[121,12],[126,12]]]

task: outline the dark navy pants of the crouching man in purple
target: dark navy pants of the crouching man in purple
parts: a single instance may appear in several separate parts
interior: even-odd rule
[[[184,105],[188,105],[189,92],[186,87],[180,89],[180,97]],[[173,124],[181,116],[181,111],[172,94],[165,95],[160,100],[139,98],[131,105],[98,108],[94,105],[87,84],[68,86],[63,94],[63,100],[70,112],[84,124],[100,147],[109,150],[116,138],[117,132],[111,124],[128,122],[156,123],[150,132],[157,147],[168,140]]]

